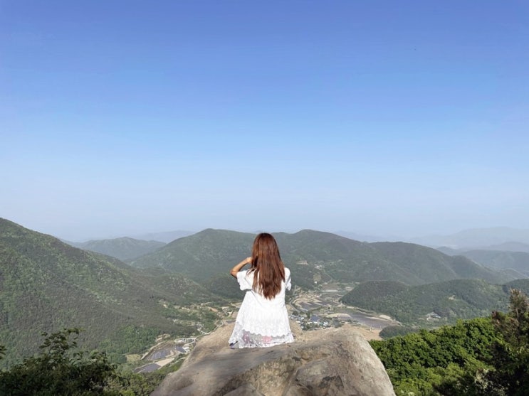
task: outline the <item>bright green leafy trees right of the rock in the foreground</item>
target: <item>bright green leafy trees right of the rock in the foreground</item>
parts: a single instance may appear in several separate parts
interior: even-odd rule
[[[519,289],[506,313],[370,343],[397,395],[529,395],[529,301]]]

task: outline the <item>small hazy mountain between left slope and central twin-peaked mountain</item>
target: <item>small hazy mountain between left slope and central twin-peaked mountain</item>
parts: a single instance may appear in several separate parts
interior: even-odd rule
[[[83,250],[98,252],[103,255],[115,257],[120,260],[134,259],[154,252],[164,246],[164,242],[156,240],[136,240],[130,237],[115,238],[110,240],[89,240],[88,242],[68,242],[69,245]]]

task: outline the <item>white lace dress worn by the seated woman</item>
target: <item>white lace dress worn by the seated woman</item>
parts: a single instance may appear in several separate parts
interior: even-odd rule
[[[229,338],[230,346],[255,348],[293,342],[285,305],[285,291],[291,286],[290,270],[285,268],[285,282],[281,282],[281,291],[271,300],[252,289],[253,271],[239,271],[237,282],[241,290],[247,291]]]

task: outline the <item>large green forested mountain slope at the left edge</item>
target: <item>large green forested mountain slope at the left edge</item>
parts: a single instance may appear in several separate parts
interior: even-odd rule
[[[189,336],[197,323],[211,326],[216,316],[193,305],[211,299],[181,274],[134,269],[0,219],[3,365],[35,353],[43,331],[72,327],[86,330],[88,346],[138,353],[159,333]]]

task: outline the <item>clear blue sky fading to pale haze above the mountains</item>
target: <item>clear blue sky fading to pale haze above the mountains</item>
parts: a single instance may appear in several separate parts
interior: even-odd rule
[[[0,1],[0,217],[69,240],[529,225],[529,3]]]

